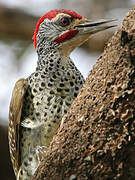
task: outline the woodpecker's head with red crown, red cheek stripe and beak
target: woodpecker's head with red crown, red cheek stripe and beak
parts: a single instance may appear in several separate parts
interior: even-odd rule
[[[49,44],[69,55],[91,34],[113,27],[104,25],[111,21],[89,21],[75,11],[51,10],[37,22],[33,35],[34,46],[38,50]]]

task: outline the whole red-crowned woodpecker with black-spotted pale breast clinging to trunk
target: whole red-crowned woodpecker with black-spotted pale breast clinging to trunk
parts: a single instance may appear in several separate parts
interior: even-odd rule
[[[90,21],[75,11],[51,10],[37,22],[33,40],[37,67],[13,89],[9,109],[9,149],[17,180],[34,175],[84,78],[70,53],[113,20]]]

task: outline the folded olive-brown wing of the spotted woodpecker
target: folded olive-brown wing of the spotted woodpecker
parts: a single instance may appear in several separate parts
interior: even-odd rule
[[[8,122],[8,138],[11,161],[14,172],[17,175],[19,162],[19,128],[20,119],[23,106],[23,98],[28,88],[28,82],[25,79],[19,79],[12,92],[12,98],[9,108],[9,122]]]

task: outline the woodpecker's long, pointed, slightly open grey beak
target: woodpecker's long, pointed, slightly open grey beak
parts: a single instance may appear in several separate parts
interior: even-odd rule
[[[96,21],[89,21],[86,19],[86,22],[84,23],[80,22],[74,28],[79,30],[79,35],[85,35],[85,34],[91,35],[96,32],[117,26],[117,25],[107,25],[108,23],[111,23],[113,21],[116,21],[116,19],[111,19],[111,20],[99,19]]]

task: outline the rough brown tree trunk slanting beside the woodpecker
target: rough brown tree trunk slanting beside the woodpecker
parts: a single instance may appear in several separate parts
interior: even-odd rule
[[[135,8],[105,47],[33,180],[135,179]]]

